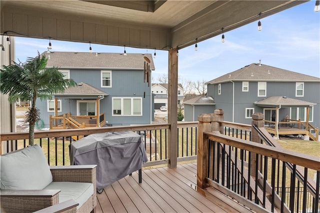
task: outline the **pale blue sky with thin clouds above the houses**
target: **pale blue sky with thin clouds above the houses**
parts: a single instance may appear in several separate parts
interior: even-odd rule
[[[278,67],[306,75],[320,77],[320,11],[314,12],[315,0],[261,18],[262,30],[257,21],[224,32],[221,35],[198,42],[179,50],[178,76],[187,81],[210,81],[251,63]],[[51,51],[85,52],[88,43],[51,40]],[[35,57],[37,51],[47,50],[48,39],[15,38],[15,61],[24,62]],[[123,53],[123,46],[91,44],[93,52]],[[151,53],[154,49],[125,47],[127,53]],[[168,52],[156,50],[153,58],[157,77],[168,72]],[[180,82],[179,82],[180,83]]]

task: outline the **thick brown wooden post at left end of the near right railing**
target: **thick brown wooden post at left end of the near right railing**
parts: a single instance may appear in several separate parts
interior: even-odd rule
[[[211,116],[209,114],[201,114],[198,116],[198,147],[197,147],[197,176],[196,184],[201,189],[206,187],[205,178],[208,171],[208,140],[203,132],[211,131]]]

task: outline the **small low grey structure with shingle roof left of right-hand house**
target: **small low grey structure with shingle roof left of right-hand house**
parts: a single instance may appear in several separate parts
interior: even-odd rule
[[[211,96],[201,95],[187,101],[184,104],[184,121],[198,121],[200,114],[213,113],[214,100]]]

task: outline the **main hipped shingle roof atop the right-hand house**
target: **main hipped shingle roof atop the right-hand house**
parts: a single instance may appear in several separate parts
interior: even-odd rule
[[[320,78],[313,77],[285,69],[280,69],[265,64],[252,63],[238,70],[222,75],[206,82],[216,84],[226,81],[318,81]]]

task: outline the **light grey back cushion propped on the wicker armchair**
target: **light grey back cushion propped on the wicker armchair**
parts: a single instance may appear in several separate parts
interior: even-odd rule
[[[42,190],[52,175],[37,144],[0,157],[1,190]]]

